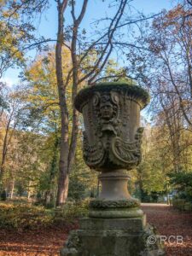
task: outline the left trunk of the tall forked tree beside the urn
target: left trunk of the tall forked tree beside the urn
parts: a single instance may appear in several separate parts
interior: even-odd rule
[[[64,43],[64,12],[67,7],[67,1],[58,1],[58,32],[55,48],[55,64],[56,64],[56,79],[59,92],[59,102],[61,110],[61,148],[59,162],[59,180],[56,196],[56,207],[63,205],[67,200],[68,194],[68,109],[66,101],[66,86],[63,82],[62,74],[62,44]]]

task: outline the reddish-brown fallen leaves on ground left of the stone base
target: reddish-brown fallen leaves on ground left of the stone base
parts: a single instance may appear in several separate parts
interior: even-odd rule
[[[58,256],[69,230],[77,224],[41,230],[0,230],[0,256]]]

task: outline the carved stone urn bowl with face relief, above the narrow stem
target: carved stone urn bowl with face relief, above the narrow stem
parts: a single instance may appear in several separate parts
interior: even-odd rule
[[[136,85],[97,84],[79,92],[75,107],[84,116],[84,161],[101,172],[131,170],[141,161],[140,110],[148,93]]]

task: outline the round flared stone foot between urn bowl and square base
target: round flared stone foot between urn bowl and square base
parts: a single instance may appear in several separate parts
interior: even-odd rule
[[[131,197],[127,189],[130,178],[125,170],[102,172],[99,175],[102,191],[90,201],[90,218],[141,218],[140,202]]]

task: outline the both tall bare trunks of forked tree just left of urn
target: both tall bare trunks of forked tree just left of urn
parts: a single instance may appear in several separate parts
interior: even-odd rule
[[[75,18],[74,14],[74,6],[75,2],[72,1],[72,15],[73,15],[73,38],[72,38],[72,50],[71,56],[73,61],[73,89],[72,89],[72,102],[74,101],[75,96],[77,95],[79,78],[78,78],[78,70],[79,63],[77,59],[77,39],[78,39],[78,29],[79,24],[84,18],[85,10],[87,7],[88,0],[84,0],[80,15],[78,19]],[[78,132],[79,132],[79,121],[78,121],[78,112],[73,107],[73,128],[71,141],[69,145],[68,138],[68,109],[67,109],[67,99],[66,99],[66,86],[64,84],[62,77],[62,59],[61,59],[61,49],[64,44],[64,31],[63,31],[63,14],[67,7],[67,1],[63,1],[62,3],[58,3],[58,33],[57,33],[57,44],[55,51],[55,61],[56,61],[56,78],[57,85],[60,97],[60,108],[61,108],[61,152],[60,152],[60,177],[58,181],[58,191],[57,191],[57,199],[56,206],[61,206],[67,200],[68,194],[68,184],[69,184],[69,172],[71,170],[75,149],[77,144]]]

